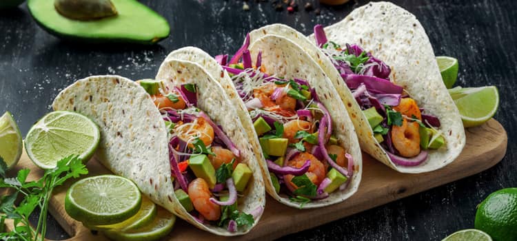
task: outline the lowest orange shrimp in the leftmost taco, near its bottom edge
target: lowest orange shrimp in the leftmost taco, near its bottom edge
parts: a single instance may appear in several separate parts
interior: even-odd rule
[[[192,200],[194,209],[199,211],[206,220],[215,221],[221,218],[221,207],[210,202],[210,189],[203,178],[196,178],[188,185],[188,196]]]

